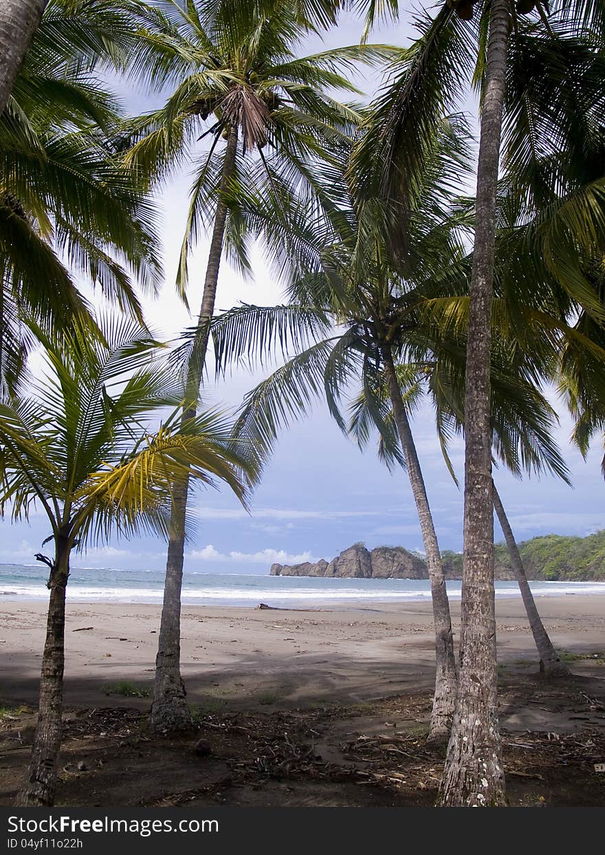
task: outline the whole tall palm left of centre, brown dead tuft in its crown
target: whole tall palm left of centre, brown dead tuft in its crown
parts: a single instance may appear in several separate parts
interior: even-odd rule
[[[197,161],[178,274],[185,298],[191,245],[207,228],[209,255],[186,380],[191,402],[197,398],[203,377],[225,246],[240,268],[248,271],[250,240],[266,233],[265,224],[253,210],[256,200],[267,194],[282,202],[276,209],[276,222],[283,227],[291,198],[335,214],[336,202],[320,178],[330,168],[328,152],[347,144],[345,132],[359,116],[326,90],[356,91],[340,69],[351,68],[357,60],[375,62],[389,53],[372,45],[357,45],[298,58],[297,44],[311,27],[306,5],[277,0],[246,4],[197,0],[183,9],[177,3],[160,3],[162,26],[175,62],[184,69],[183,78],[163,109],[131,127],[135,142],[127,160],[159,177],[191,154]],[[326,15],[331,4],[308,6],[315,12],[324,9]],[[203,138],[209,139],[209,150],[200,157],[195,144]],[[195,412],[192,404],[183,412],[184,422]],[[187,496],[186,480],[174,486],[151,709],[151,726],[161,731],[191,724],[179,670]]]

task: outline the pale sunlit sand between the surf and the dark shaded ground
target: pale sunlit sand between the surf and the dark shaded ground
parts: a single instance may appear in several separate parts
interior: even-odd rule
[[[605,597],[541,597],[537,604],[555,646],[584,654],[605,649]],[[431,604],[372,606],[185,607],[181,649],[188,698],[193,704],[238,709],[267,693],[287,708],[430,690]],[[452,603],[452,612],[457,635],[459,603]],[[1,703],[37,702],[45,613],[42,602],[2,604]],[[505,668],[535,671],[536,652],[520,599],[498,599],[496,616],[499,661]],[[150,690],[159,624],[156,605],[68,604],[65,705],[149,705],[146,698],[109,698],[103,687],[127,680]],[[573,662],[573,672],[605,678],[602,658]]]

